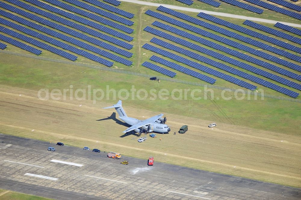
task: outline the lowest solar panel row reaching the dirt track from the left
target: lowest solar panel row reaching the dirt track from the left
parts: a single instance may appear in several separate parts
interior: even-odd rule
[[[15,11],[17,11],[17,9]],[[18,9],[18,10],[20,10],[20,9]],[[22,14],[25,11],[20,10],[20,11],[17,11],[17,12],[20,13],[20,14]],[[131,61],[126,60],[126,59],[124,59],[122,57],[116,56],[116,55],[114,55],[112,53],[109,53],[107,51],[104,51],[104,50],[101,50],[99,48],[96,48],[96,47],[94,47],[92,45],[89,45],[89,44],[87,44],[85,42],[81,42],[81,41],[79,41],[79,40],[77,40],[77,39],[75,39],[73,37],[69,37],[67,35],[64,35],[64,34],[61,34],[59,32],[53,31],[51,29],[48,29],[48,28],[46,28],[44,26],[41,26],[41,25],[38,25],[36,23],[30,22],[30,21],[28,21],[26,19],[23,19],[22,17],[18,17],[16,15],[13,15],[13,14],[5,12],[5,11],[0,11],[0,14],[3,15],[3,16],[5,16],[5,17],[8,17],[8,18],[10,18],[12,20],[15,20],[15,21],[17,21],[19,23],[22,23],[22,24],[24,24],[26,26],[32,27],[32,28],[37,29],[37,30],[39,30],[41,32],[49,34],[49,35],[51,35],[53,37],[60,38],[60,39],[62,39],[64,41],[66,41],[66,42],[70,42],[70,43],[75,44],[75,45],[77,45],[79,47],[85,48],[85,49],[87,49],[89,51],[95,52],[95,53],[100,54],[100,55],[102,55],[104,57],[107,57],[107,58],[110,58],[112,60],[115,60],[115,61],[117,61],[119,63],[123,63],[123,64],[125,64],[127,66],[129,66],[129,65],[132,64]],[[28,13],[27,17],[29,17],[32,20],[36,20],[37,22],[40,22],[40,23],[41,22],[46,23],[46,21],[48,21],[48,20],[44,20],[41,17],[38,17],[38,16],[36,16],[34,14],[31,14],[31,13]],[[49,23],[52,23],[52,22],[49,22]],[[62,27],[61,30],[64,31],[64,32],[66,32],[66,30],[64,30],[64,29],[67,29],[67,28],[64,28],[63,26],[61,26],[61,27]],[[39,33],[36,32],[36,34],[39,34]],[[74,35],[77,35],[77,34],[74,33]],[[91,39],[93,39],[93,38],[91,38]]]

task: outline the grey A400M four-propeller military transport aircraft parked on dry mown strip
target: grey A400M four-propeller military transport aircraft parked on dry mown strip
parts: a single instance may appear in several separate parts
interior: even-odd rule
[[[122,101],[119,100],[115,105],[105,107],[107,108],[115,108],[116,112],[119,115],[119,118],[122,119],[124,122],[126,122],[128,125],[131,125],[128,129],[123,131],[123,133],[128,133],[129,131],[135,131],[141,135],[141,133],[150,133],[150,132],[157,132],[157,133],[168,133],[170,131],[170,128],[168,125],[165,124],[166,117],[161,118],[163,114],[156,115],[154,117],[145,119],[145,120],[139,120],[135,118],[128,117],[126,115],[126,112],[122,108]]]

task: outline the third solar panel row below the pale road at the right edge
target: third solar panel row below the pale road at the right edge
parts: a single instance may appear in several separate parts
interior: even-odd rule
[[[275,45],[278,45],[280,47],[283,47],[283,48],[286,48],[286,49],[289,49],[291,51],[295,51],[297,53],[301,53],[301,48],[299,47],[296,47],[294,45],[290,45],[288,43],[285,43],[285,42],[282,42],[280,40],[277,40],[275,38],[271,38],[271,37],[268,37],[266,35],[263,35],[261,33],[258,33],[256,31],[252,31],[250,29],[247,29],[245,27],[242,27],[242,26],[239,26],[239,25],[236,25],[234,23],[230,23],[230,22],[227,22],[225,20],[222,20],[222,19],[219,19],[217,17],[213,17],[209,14],[206,14],[206,13],[199,13],[197,14],[198,17],[202,17],[203,19],[206,19],[206,20],[209,20],[209,21],[212,21],[212,22],[215,22],[217,24],[220,24],[220,25],[223,25],[223,26],[226,26],[228,28],[231,28],[231,29],[234,29],[234,30],[237,30],[239,32],[242,32],[242,33],[245,33],[245,34],[248,34],[248,35],[251,35],[255,38],[259,38],[259,39],[262,39],[266,42],[271,42],[272,44],[275,44]],[[301,60],[301,57],[299,57],[299,59]]]

